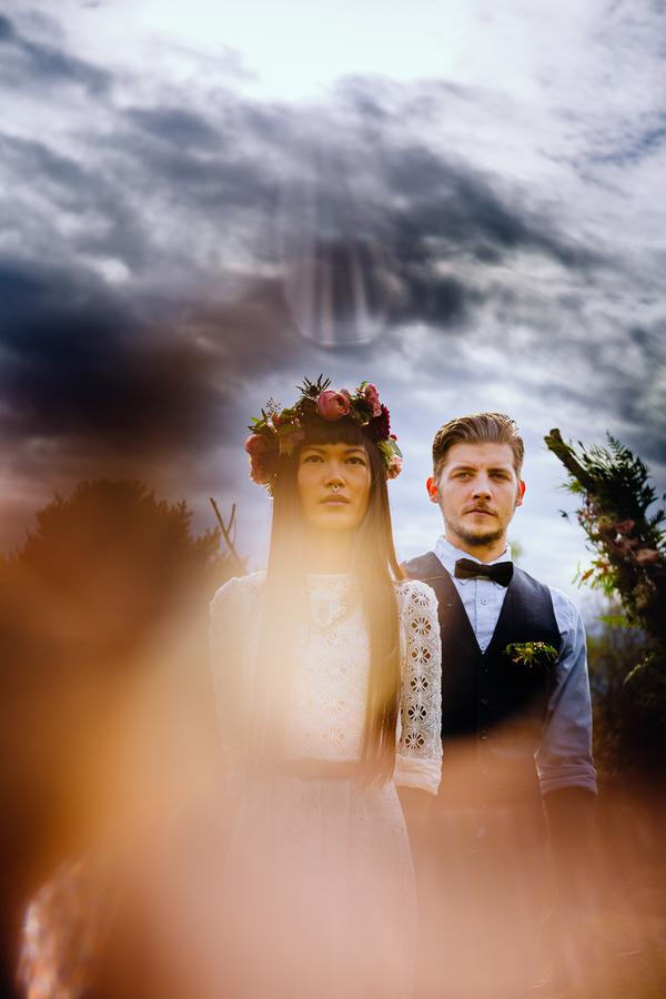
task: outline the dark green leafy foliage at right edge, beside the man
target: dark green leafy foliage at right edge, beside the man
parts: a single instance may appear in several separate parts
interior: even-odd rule
[[[647,466],[610,434],[605,447],[575,447],[557,430],[545,441],[581,498],[576,515],[595,556],[578,582],[616,605],[603,618],[603,642],[589,643],[598,755],[610,773],[659,771],[666,764],[666,512],[650,512],[657,494]]]

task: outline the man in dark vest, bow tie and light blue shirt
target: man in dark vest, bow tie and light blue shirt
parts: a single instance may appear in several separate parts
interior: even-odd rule
[[[418,865],[428,999],[525,996],[553,887],[541,989],[554,993],[582,901],[596,795],[585,633],[568,597],[512,562],[523,450],[501,413],[441,427],[427,492],[444,535],[404,566],[435,591],[442,635],[443,778]]]

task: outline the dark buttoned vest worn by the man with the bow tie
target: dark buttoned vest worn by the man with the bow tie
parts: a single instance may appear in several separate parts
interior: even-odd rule
[[[555,670],[513,663],[505,649],[516,642],[545,642],[559,652],[548,587],[514,567],[491,643],[482,652],[455,584],[437,556],[418,555],[404,569],[412,579],[427,583],[438,602],[445,754],[440,794],[471,805],[517,803],[538,794],[534,754]],[[446,756],[456,744],[466,748],[458,754],[462,769],[453,775],[447,773]]]

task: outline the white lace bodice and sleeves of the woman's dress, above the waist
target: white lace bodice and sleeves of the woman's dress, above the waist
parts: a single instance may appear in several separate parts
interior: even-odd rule
[[[264,574],[231,579],[211,605],[212,668],[222,739],[242,759],[252,709],[253,662]],[[295,644],[294,695],[285,749],[293,759],[361,755],[370,640],[351,575],[309,575],[307,626]],[[441,644],[436,599],[424,583],[395,586],[401,640],[396,784],[436,794],[441,771]]]

